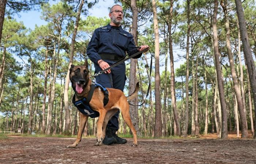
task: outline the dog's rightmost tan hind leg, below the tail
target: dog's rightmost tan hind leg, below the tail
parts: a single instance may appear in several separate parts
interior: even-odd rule
[[[129,104],[126,100],[124,100],[123,102],[120,103],[120,112],[122,114],[122,117],[124,119],[124,122],[129,126],[129,128],[132,131],[132,135],[133,135],[133,145],[132,146],[138,146],[138,142],[137,142],[137,133],[136,130],[132,124],[132,120],[129,114]]]

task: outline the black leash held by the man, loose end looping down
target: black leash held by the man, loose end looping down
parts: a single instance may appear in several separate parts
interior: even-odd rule
[[[140,48],[140,47],[135,47],[135,48]],[[135,48],[133,48],[133,49],[135,49]],[[132,49],[132,50],[133,50],[133,49]],[[152,53],[151,53],[151,51],[149,50],[149,47],[147,47],[147,48],[145,48],[144,50],[139,51],[139,52],[137,52],[137,53],[135,53],[135,54],[129,56],[128,58],[125,58],[127,55],[124,56],[122,59],[118,60],[118,61],[117,61],[116,63],[114,63],[112,66],[106,68],[105,70],[99,71],[97,74],[92,75],[90,78],[95,77],[95,76],[98,76],[98,75],[104,73],[105,71],[107,71],[107,70],[109,70],[109,69],[112,69],[113,67],[119,65],[120,63],[125,62],[126,60],[129,60],[129,59],[133,58],[134,56],[137,56],[137,55],[139,55],[139,54],[142,54],[143,52],[146,52],[147,50],[148,50],[148,51],[150,52],[150,54],[151,54],[150,74],[149,74],[149,84],[148,84],[148,89],[147,89],[147,95],[146,95],[146,97],[145,97],[143,103],[140,104],[140,105],[133,105],[133,104],[129,103],[129,105],[132,105],[132,106],[141,106],[141,105],[143,105],[143,104],[145,103],[145,101],[146,101],[146,99],[147,99],[147,96],[148,96],[148,94],[149,94],[150,86],[151,86]],[[130,52],[131,52],[131,51],[130,51]],[[128,54],[129,54],[129,53],[128,53]]]

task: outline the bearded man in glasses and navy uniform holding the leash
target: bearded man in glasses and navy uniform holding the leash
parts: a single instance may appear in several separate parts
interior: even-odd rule
[[[111,19],[107,26],[97,28],[87,47],[87,55],[93,61],[95,73],[108,68],[116,61],[123,58],[128,53],[129,56],[136,52],[147,48],[147,45],[141,48],[135,48],[133,36],[124,31],[120,26],[123,21],[123,9],[120,5],[114,5],[109,12]],[[140,58],[137,55],[134,58]],[[113,67],[111,70],[105,71],[95,77],[96,82],[104,87],[124,90],[125,85],[125,63]],[[106,127],[106,136],[103,139],[103,144],[125,144],[127,140],[116,135],[118,130],[119,111],[109,120]]]

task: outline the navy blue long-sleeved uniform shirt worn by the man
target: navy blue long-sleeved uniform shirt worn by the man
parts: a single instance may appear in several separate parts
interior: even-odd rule
[[[87,46],[87,55],[89,58],[97,64],[98,60],[101,59],[99,54],[109,53],[117,55],[119,57],[124,57],[126,52],[128,55],[133,55],[139,52],[135,48],[134,40],[132,34],[124,31],[123,28],[107,26],[97,28]],[[134,58],[140,58],[142,54],[135,56]]]

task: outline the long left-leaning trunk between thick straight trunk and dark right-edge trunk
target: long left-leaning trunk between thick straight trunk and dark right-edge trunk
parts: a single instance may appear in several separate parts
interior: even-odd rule
[[[223,1],[221,1],[221,2],[222,2],[221,6],[223,8],[223,12],[224,12],[224,15],[225,15],[227,54],[229,56],[231,76],[232,76],[232,79],[233,79],[233,85],[234,85],[234,90],[235,90],[235,93],[236,93],[237,105],[238,105],[238,110],[239,110],[240,119],[241,119],[242,137],[244,138],[244,137],[248,137],[248,131],[247,131],[247,126],[246,126],[245,106],[243,105],[243,102],[242,102],[241,91],[240,91],[240,88],[238,86],[237,74],[236,74],[236,70],[235,70],[235,66],[234,66],[234,59],[233,59],[233,55],[232,55],[232,52],[231,52],[229,18],[228,18],[228,15],[227,15],[227,9],[226,9],[226,5],[225,5],[225,4],[227,4],[227,2],[226,2],[226,0],[225,0],[225,4],[223,3]],[[241,72],[241,76],[242,76],[242,74],[243,74],[243,72]]]

